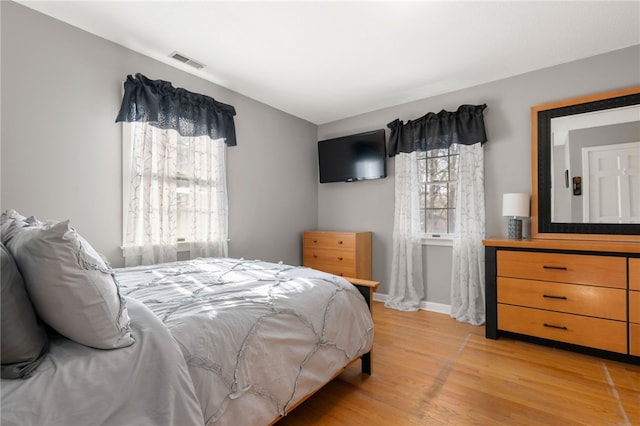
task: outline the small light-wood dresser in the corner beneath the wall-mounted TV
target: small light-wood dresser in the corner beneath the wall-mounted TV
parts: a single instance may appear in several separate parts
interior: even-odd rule
[[[371,232],[306,231],[304,266],[341,277],[371,279]]]

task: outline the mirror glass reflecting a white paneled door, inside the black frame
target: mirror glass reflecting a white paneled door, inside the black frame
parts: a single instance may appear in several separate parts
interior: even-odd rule
[[[640,106],[551,119],[551,221],[640,223]]]

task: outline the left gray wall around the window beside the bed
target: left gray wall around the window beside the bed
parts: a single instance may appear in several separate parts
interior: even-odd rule
[[[121,128],[127,74],[234,105],[230,255],[300,264],[317,224],[317,126],[12,2],[1,3],[1,197],[42,219],[70,219],[123,264]]]

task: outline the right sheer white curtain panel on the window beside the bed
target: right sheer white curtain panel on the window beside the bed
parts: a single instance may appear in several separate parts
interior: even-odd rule
[[[189,187],[188,234],[191,257],[226,257],[228,207],[224,139],[190,139],[192,179]]]

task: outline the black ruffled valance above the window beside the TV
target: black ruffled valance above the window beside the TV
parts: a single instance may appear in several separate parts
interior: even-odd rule
[[[389,135],[389,157],[401,152],[429,151],[448,148],[454,143],[473,145],[485,143],[484,131],[486,105],[461,105],[456,112],[442,110],[430,112],[417,120],[403,123],[395,119],[387,124]]]

